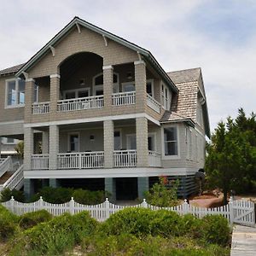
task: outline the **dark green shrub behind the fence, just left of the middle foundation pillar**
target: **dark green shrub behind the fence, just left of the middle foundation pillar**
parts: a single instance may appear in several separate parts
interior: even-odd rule
[[[75,189],[73,191],[74,201],[83,205],[100,204],[105,201],[106,197],[108,197],[108,195],[105,195],[104,191],[90,191],[84,189]]]

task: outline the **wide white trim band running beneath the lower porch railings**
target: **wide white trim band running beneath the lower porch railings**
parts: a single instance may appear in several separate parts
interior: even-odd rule
[[[155,177],[193,175],[199,168],[99,168],[24,171],[24,178]]]

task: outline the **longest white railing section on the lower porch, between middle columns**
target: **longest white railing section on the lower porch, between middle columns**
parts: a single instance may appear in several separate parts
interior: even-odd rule
[[[59,169],[93,169],[104,167],[104,152],[58,154]]]

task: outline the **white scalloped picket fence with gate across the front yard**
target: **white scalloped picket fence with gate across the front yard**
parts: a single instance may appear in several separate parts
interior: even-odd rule
[[[38,210],[47,210],[54,216],[59,216],[64,212],[70,212],[75,214],[82,211],[89,211],[92,218],[96,218],[98,221],[104,221],[109,218],[114,212],[119,212],[122,209],[131,206],[118,206],[108,201],[104,201],[102,204],[95,206],[86,206],[79,204],[71,199],[67,203],[63,204],[51,204],[42,199],[32,203],[21,203],[15,201],[12,197],[10,201],[3,202],[2,205],[8,208],[11,212],[17,215],[22,215],[26,212],[35,212]],[[145,200],[139,205],[133,207],[143,207],[152,210],[166,209],[169,211],[177,212],[180,215],[187,213],[193,214],[197,218],[202,218],[206,215],[222,215],[227,218],[230,224],[244,224],[244,225],[254,225],[255,224],[255,213],[254,213],[254,203],[251,201],[237,200],[232,201],[223,207],[215,208],[201,208],[189,205],[189,203],[184,200],[183,204],[177,207],[154,207],[149,205]]]

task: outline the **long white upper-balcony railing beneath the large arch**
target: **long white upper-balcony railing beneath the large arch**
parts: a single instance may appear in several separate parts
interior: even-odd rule
[[[102,108],[103,102],[103,96],[90,96],[58,101],[57,105],[59,112],[67,112],[90,108]]]

